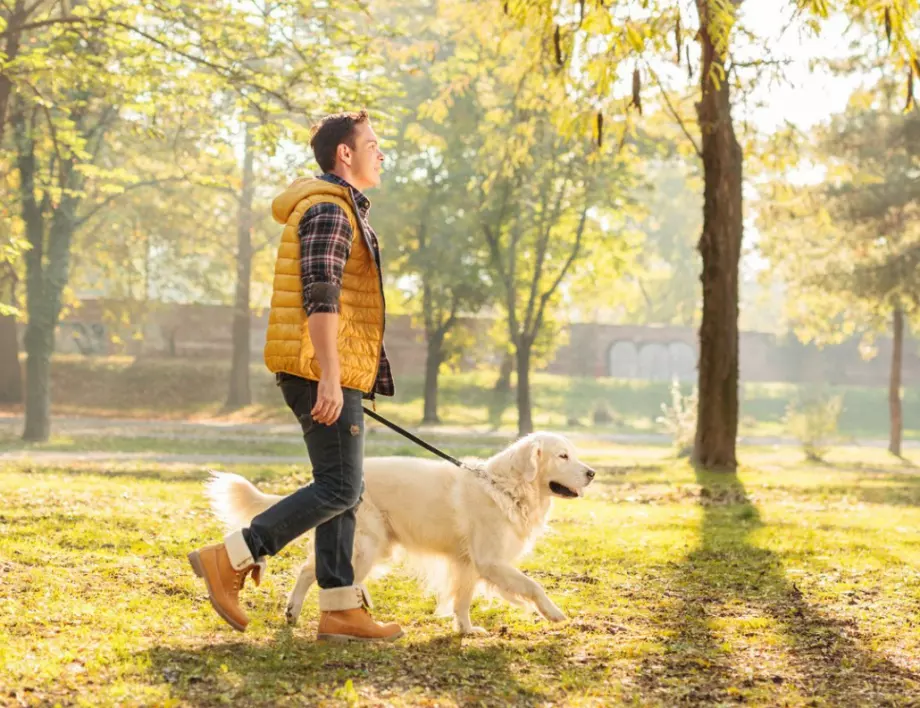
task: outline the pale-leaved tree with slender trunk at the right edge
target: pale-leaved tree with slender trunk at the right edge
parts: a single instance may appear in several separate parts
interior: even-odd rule
[[[900,455],[905,318],[920,315],[920,112],[893,110],[887,88],[887,100],[854,95],[803,156],[825,182],[773,185],[762,249],[790,287],[801,338],[892,332],[889,450]]]

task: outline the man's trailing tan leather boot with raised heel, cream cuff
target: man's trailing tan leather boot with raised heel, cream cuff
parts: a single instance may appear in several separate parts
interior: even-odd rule
[[[223,543],[192,551],[188,560],[195,575],[204,578],[217,614],[234,629],[246,631],[249,618],[240,607],[240,590],[250,572],[255,584],[259,584],[265,564],[253,560],[242,531],[234,531]]]

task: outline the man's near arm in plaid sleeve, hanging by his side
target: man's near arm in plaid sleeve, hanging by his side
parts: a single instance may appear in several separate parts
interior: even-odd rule
[[[351,251],[351,223],[341,207],[317,204],[303,215],[298,235],[307,329],[321,370],[311,414],[318,423],[332,425],[342,412],[339,297],[342,273]]]

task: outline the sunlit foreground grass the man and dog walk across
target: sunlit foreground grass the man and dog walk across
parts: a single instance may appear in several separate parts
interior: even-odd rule
[[[492,634],[461,641],[397,570],[371,582],[377,614],[408,632],[387,647],[314,643],[315,592],[301,624],[284,624],[305,542],[247,586],[247,633],[223,625],[185,561],[219,535],[199,467],[6,464],[0,704],[917,704],[910,462],[749,450],[737,475],[718,475],[661,449],[603,457],[587,498],[557,504],[522,564],[568,622],[480,602],[474,622]],[[233,469],[276,492],[309,478],[302,465]]]

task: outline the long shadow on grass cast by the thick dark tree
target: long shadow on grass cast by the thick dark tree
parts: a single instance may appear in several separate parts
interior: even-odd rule
[[[762,701],[781,691],[809,705],[916,701],[920,675],[868,649],[855,621],[831,618],[806,602],[780,558],[751,541],[763,523],[737,476],[696,476],[704,509],[699,546],[671,577],[667,592],[676,604],[656,620],[670,635],[664,652],[640,669],[642,700],[700,705],[747,693]],[[724,644],[713,620],[746,623],[745,638],[731,645],[737,635],[729,634]],[[765,636],[766,646],[752,647],[747,637],[764,630],[775,641]]]

